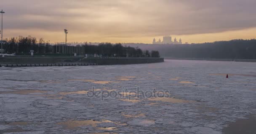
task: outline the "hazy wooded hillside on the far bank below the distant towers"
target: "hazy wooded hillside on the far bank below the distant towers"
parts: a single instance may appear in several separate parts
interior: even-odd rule
[[[162,57],[204,59],[256,59],[256,39],[215,41],[201,44],[127,44],[157,50]]]

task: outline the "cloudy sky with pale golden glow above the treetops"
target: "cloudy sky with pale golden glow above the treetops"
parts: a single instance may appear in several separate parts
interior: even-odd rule
[[[200,43],[256,38],[256,0],[3,0],[4,38]]]

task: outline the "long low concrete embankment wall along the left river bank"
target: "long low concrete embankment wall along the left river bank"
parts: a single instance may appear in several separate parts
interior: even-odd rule
[[[163,58],[83,58],[83,57],[0,57],[0,64],[61,64],[61,63],[97,63],[107,64],[143,64],[164,62]]]

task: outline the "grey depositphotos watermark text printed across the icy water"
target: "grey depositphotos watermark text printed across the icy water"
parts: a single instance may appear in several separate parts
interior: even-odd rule
[[[86,94],[88,98],[100,98],[101,101],[104,101],[105,98],[120,98],[120,99],[144,99],[151,97],[170,97],[168,90],[157,90],[156,88],[152,90],[140,90],[139,87],[135,89],[128,89],[122,87],[121,90],[101,90],[95,89],[92,87],[92,90],[88,91]]]

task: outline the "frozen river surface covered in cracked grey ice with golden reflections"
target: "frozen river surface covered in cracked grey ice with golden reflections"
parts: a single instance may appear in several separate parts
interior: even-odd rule
[[[256,114],[256,63],[0,67],[0,76],[6,134],[221,134]]]

